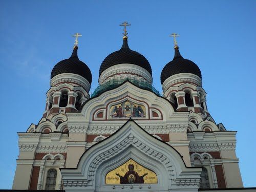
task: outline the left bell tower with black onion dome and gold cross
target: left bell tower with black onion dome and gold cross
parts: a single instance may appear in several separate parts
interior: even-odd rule
[[[76,40],[70,58],[58,62],[51,72],[51,88],[47,92],[44,117],[56,113],[77,112],[90,98],[92,73],[77,56],[78,37],[81,34],[76,33],[73,36]]]

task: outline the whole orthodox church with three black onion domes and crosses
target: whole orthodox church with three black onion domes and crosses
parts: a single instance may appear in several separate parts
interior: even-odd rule
[[[90,63],[78,58],[80,34],[71,56],[54,66],[41,120],[18,133],[12,189],[247,190],[237,132],[211,117],[196,63],[183,58],[175,40],[160,95],[150,62],[129,47],[129,24],[122,25],[122,47],[102,61],[91,95]]]

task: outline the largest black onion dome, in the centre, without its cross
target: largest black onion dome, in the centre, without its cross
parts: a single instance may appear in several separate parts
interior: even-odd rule
[[[130,63],[140,66],[152,75],[151,66],[148,60],[140,53],[131,50],[128,46],[127,39],[123,38],[122,48],[119,51],[111,53],[101,63],[99,76],[104,70],[122,63]]]

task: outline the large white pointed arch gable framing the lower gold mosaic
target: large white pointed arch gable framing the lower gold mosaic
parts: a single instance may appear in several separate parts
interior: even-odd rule
[[[84,152],[76,168],[61,169],[65,190],[100,191],[104,188],[112,191],[112,185],[104,184],[106,173],[129,158],[152,169],[162,179],[151,185],[151,190],[166,191],[180,186],[184,188],[182,191],[198,188],[201,168],[186,167],[172,146],[155,139],[129,120],[113,135]],[[145,184],[133,184],[134,187],[139,185],[146,187]],[[120,184],[115,188],[121,191]]]

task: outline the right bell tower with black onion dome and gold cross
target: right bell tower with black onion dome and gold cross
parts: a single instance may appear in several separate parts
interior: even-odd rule
[[[174,58],[161,73],[163,96],[173,103],[177,111],[189,111],[209,116],[206,106],[206,92],[202,88],[202,75],[199,67],[181,56],[174,37]]]

